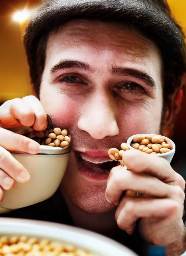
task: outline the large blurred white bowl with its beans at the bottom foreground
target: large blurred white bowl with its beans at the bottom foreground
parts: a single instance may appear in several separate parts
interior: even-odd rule
[[[137,256],[97,233],[44,221],[0,218],[2,256]]]

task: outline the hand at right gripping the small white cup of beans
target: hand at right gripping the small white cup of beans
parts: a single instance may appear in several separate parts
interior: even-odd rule
[[[185,180],[169,163],[154,155],[128,150],[123,155],[124,167],[110,171],[106,199],[117,205],[116,221],[132,234],[140,221],[140,232],[152,244],[164,245],[167,255],[180,255],[186,229],[182,221]],[[144,196],[123,196],[124,191],[138,191]]]

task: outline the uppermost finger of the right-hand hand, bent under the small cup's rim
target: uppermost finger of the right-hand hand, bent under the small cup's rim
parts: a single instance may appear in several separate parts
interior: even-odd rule
[[[166,183],[176,180],[173,168],[162,157],[148,155],[139,150],[127,150],[123,153],[123,162],[133,172],[146,172]]]

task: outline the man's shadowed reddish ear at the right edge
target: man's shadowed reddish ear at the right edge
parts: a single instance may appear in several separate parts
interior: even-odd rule
[[[163,124],[163,135],[166,137],[173,136],[173,129],[176,117],[181,109],[181,103],[183,99],[183,90],[177,89],[177,91],[170,96],[169,106],[165,112],[165,121]]]

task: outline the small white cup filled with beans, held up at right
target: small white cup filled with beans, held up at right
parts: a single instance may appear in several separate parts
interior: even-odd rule
[[[157,134],[137,134],[129,137],[126,142],[129,149],[137,149],[146,154],[156,155],[166,159],[169,164],[175,154],[174,142]]]

